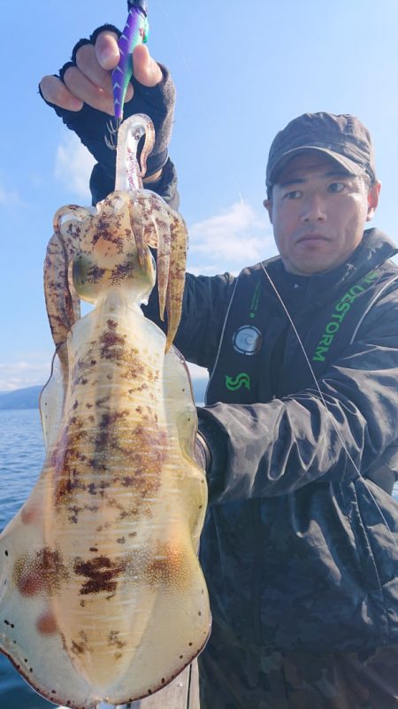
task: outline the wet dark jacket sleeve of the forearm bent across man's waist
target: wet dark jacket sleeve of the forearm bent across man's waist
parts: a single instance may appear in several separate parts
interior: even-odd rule
[[[398,292],[374,305],[319,389],[199,409],[213,504],[366,474],[398,438]]]

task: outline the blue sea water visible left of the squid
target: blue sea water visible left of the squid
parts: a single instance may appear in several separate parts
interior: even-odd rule
[[[39,411],[0,411],[0,530],[29,496],[43,459]],[[398,500],[398,487],[394,497]],[[29,687],[2,653],[0,706],[4,709],[54,709],[53,704]]]

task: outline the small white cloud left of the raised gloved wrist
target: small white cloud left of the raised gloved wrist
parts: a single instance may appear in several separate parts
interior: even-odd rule
[[[77,135],[68,133],[58,145],[54,174],[65,188],[80,197],[85,204],[90,204],[88,184],[94,164],[95,159],[80,143]]]

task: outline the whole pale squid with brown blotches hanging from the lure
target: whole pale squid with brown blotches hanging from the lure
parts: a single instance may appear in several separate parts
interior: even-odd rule
[[[121,705],[164,687],[203,649],[197,559],[207,502],[188,369],[172,346],[187,231],[142,189],[120,128],[116,190],[58,210],[44,266],[56,345],[42,390],[46,459],[0,536],[0,650],[54,704]],[[157,268],[149,247],[157,249]],[[141,305],[157,289],[167,335]],[[80,317],[80,299],[92,309]]]

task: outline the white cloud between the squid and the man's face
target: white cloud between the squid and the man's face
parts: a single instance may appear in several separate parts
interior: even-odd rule
[[[195,274],[236,272],[275,253],[265,215],[250,204],[232,204],[221,214],[195,222],[188,232],[189,271]]]

